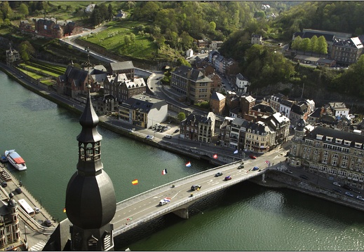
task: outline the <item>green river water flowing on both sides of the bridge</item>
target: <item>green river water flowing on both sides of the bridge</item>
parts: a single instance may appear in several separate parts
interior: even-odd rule
[[[79,115],[30,92],[0,72],[0,151],[15,148],[28,169],[11,169],[58,221],[76,172]],[[212,166],[121,137],[101,127],[102,163],[117,202]],[[185,163],[191,161],[191,167]],[[161,175],[163,169],[168,174]],[[138,179],[137,186],[131,181]],[[245,182],[198,202],[189,219],[174,214],[116,237],[132,251],[362,251],[363,212],[292,190]]]

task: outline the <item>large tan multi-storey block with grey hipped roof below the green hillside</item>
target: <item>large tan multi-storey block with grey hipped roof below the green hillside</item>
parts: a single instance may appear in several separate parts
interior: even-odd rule
[[[193,104],[200,100],[210,100],[212,82],[201,71],[189,66],[180,66],[172,72],[170,87],[183,94],[186,101]]]

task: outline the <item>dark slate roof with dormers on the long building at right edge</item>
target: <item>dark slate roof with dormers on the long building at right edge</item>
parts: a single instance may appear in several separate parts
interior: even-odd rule
[[[344,132],[341,130],[334,130],[328,127],[316,127],[314,130],[309,132],[309,134],[307,134],[306,139],[316,139],[318,134],[323,136],[323,141],[326,141],[326,137],[332,137],[333,139],[331,142],[327,141],[330,144],[341,145],[346,148],[349,147],[344,145],[344,141],[342,141],[342,144],[336,144],[336,139],[342,139],[346,141],[351,141],[351,148],[355,146],[355,143],[363,144],[360,149],[363,149],[364,146],[364,135]]]

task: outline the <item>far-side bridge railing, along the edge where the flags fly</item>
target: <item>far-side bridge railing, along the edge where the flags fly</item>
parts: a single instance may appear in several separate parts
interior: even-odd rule
[[[143,196],[145,196],[145,195],[147,195],[147,194],[149,194],[149,193],[153,193],[153,192],[154,192],[154,191],[156,191],[156,190],[161,190],[161,189],[163,189],[163,188],[166,188],[166,190],[169,190],[169,189],[170,189],[170,187],[168,187],[168,186],[177,185],[177,183],[179,183],[179,182],[181,182],[181,181],[189,180],[189,179],[191,179],[192,177],[196,179],[197,177],[201,177],[201,176],[202,176],[202,175],[204,175],[204,174],[207,174],[207,173],[210,173],[210,172],[215,172],[217,169],[223,169],[223,168],[226,168],[226,167],[229,167],[229,166],[236,166],[237,164],[240,164],[240,163],[241,163],[241,160],[238,160],[238,161],[236,161],[236,162],[232,162],[232,163],[227,164],[227,165],[222,165],[222,166],[220,166],[220,167],[215,167],[215,168],[212,168],[212,169],[208,169],[208,170],[205,170],[205,171],[203,171],[203,172],[198,172],[198,173],[196,173],[196,174],[192,174],[192,175],[186,176],[186,177],[184,177],[184,178],[182,178],[182,179],[177,179],[177,180],[172,181],[172,182],[170,182],[170,183],[166,183],[166,184],[164,184],[164,185],[162,185],[162,186],[158,186],[158,187],[156,187],[156,188],[152,188],[152,189],[150,189],[150,190],[145,191],[144,193],[140,193],[140,194],[135,195],[135,196],[133,196],[133,197],[130,197],[130,198],[126,199],[126,200],[123,200],[123,201],[121,201],[121,202],[116,203],[116,210],[117,210],[119,207],[121,207],[121,204],[126,204],[128,201],[133,201],[133,202],[135,202],[135,200],[136,200],[136,199],[141,198],[141,197],[143,197]]]

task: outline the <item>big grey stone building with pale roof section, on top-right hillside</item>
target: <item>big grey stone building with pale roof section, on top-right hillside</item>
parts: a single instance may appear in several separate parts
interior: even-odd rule
[[[335,40],[332,45],[331,58],[339,64],[356,63],[363,54],[363,44],[358,37]]]

